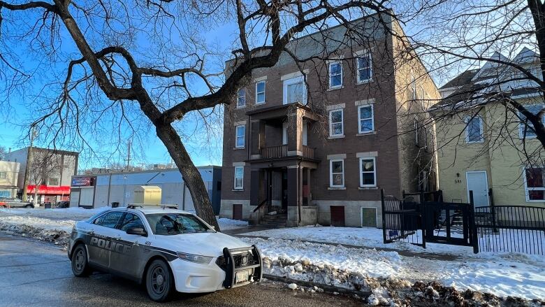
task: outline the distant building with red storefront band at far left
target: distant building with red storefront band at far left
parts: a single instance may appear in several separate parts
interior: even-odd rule
[[[78,152],[33,147],[32,161],[28,157],[28,147],[6,154],[6,161],[20,164],[17,196],[22,197],[26,173],[28,199],[34,200],[36,195],[37,204],[68,200],[71,177],[78,172]]]

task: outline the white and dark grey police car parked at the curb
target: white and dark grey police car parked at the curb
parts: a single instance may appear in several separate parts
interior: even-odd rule
[[[77,222],[68,258],[75,276],[114,273],[144,283],[154,301],[166,301],[174,290],[215,292],[262,276],[256,246],[167,206],[111,208]]]

